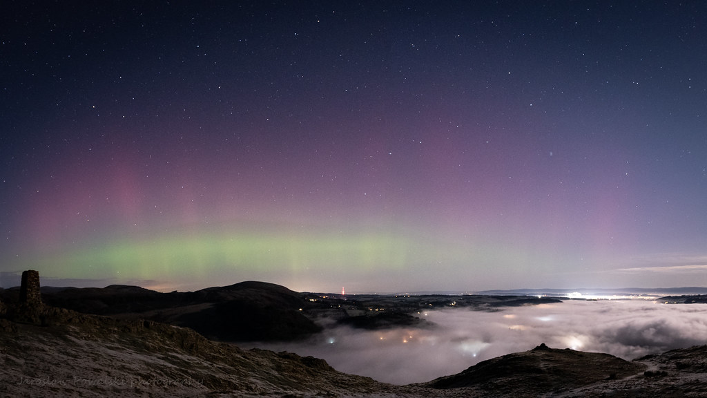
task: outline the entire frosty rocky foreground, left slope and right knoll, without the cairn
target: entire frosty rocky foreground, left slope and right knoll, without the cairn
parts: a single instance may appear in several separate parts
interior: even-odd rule
[[[544,344],[457,375],[389,385],[324,360],[242,350],[191,329],[42,307],[0,319],[5,397],[703,397],[707,346],[634,361]],[[14,318],[14,319],[13,319]],[[424,360],[424,358],[420,358]]]

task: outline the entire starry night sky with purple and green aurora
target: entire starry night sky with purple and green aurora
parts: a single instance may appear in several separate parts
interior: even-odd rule
[[[0,285],[707,285],[702,1],[4,1]]]

